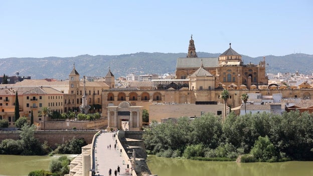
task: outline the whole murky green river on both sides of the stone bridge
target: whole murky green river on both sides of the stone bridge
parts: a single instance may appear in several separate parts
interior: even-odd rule
[[[49,170],[50,161],[54,156],[19,156],[0,155],[0,176],[24,176],[30,171]],[[67,155],[73,158],[77,155]],[[254,162],[236,163],[234,161],[197,161],[174,159],[149,155],[147,164],[153,174],[159,176],[190,176],[190,175],[254,175],[254,176],[294,176],[313,175],[313,161],[287,162]]]

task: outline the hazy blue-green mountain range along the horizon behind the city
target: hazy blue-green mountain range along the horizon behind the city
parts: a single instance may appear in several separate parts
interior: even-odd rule
[[[197,52],[198,57],[218,57],[220,53]],[[76,57],[45,57],[45,58],[3,58],[0,59],[0,76],[16,75],[31,76],[32,79],[56,78],[68,79],[69,73],[75,68],[81,75],[104,77],[109,68],[115,78],[126,76],[128,73],[164,74],[174,73],[176,61],[186,57],[186,53],[147,53],[138,52],[122,55],[79,55]],[[244,64],[258,64],[263,56],[249,57],[242,55]],[[313,55],[289,54],[285,56],[265,56],[268,64],[267,73],[295,72],[312,74]],[[200,65],[199,65],[200,66]]]

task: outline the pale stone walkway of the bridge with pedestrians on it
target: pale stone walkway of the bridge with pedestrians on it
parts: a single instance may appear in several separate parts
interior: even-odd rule
[[[125,169],[127,164],[123,156],[120,156],[120,148],[114,149],[115,138],[112,138],[113,132],[101,133],[96,142],[95,146],[95,175],[109,175],[109,168],[112,169],[112,176],[114,176],[114,170],[117,170],[117,166],[120,167],[120,175],[128,175]],[[115,133],[117,134],[117,133]],[[116,135],[117,137],[117,135]],[[111,149],[107,148],[111,144]],[[123,160],[124,163],[123,164]],[[129,168],[131,166],[129,165]],[[130,172],[130,169],[129,169]],[[118,175],[118,174],[117,174]]]

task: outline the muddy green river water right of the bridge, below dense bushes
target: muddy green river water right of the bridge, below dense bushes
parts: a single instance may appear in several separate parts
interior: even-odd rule
[[[173,159],[150,155],[148,157],[147,164],[152,174],[158,174],[158,176],[313,175],[313,161],[236,163],[234,161],[196,161],[188,159]]]

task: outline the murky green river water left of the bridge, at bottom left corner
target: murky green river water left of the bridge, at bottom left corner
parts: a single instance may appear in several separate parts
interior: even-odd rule
[[[0,155],[0,176],[20,176],[28,175],[33,170],[49,170],[50,161],[61,155],[54,156],[19,156],[19,155]],[[66,155],[73,158],[77,155]]]

